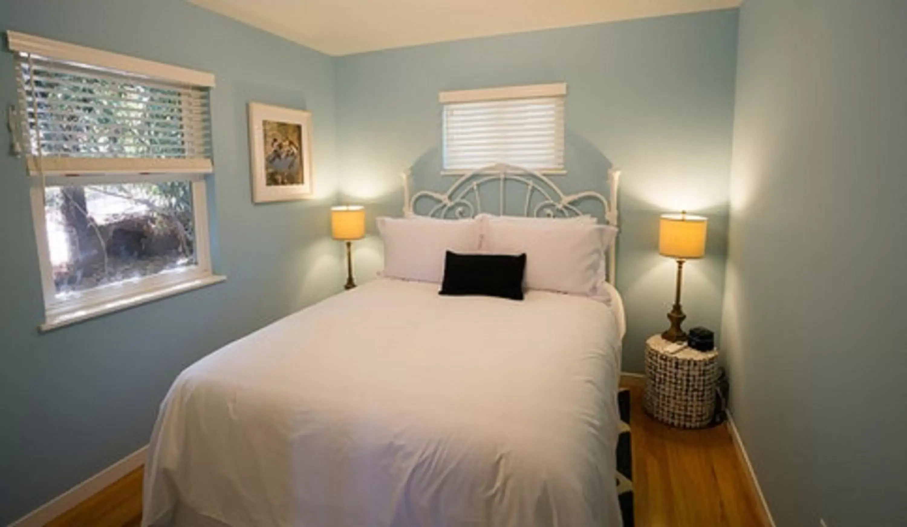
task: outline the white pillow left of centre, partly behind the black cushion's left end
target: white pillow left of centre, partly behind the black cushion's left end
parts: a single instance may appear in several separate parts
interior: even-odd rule
[[[378,218],[385,242],[382,276],[441,283],[446,251],[477,252],[481,226],[476,220]]]

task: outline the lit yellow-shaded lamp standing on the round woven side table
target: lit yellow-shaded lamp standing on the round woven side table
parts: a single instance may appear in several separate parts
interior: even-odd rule
[[[684,342],[687,334],[680,324],[687,318],[680,307],[680,283],[683,280],[683,264],[688,259],[699,259],[706,255],[707,219],[691,216],[687,211],[679,214],[663,214],[658,225],[658,253],[678,260],[678,284],[674,307],[668,313],[671,327],[661,334],[669,342]]]

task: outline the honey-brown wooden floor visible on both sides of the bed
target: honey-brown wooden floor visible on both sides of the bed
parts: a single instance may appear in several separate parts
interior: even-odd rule
[[[641,379],[630,389],[636,527],[768,527],[756,489],[726,425],[685,431],[642,411]],[[141,468],[66,512],[52,527],[125,527],[141,521]]]

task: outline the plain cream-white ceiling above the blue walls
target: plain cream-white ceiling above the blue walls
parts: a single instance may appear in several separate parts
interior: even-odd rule
[[[740,5],[740,0],[188,1],[331,55]]]

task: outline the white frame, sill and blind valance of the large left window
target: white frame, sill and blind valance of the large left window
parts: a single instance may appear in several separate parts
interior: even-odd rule
[[[73,63],[105,72],[119,73],[168,83],[212,87],[214,76],[170,64],[153,63],[127,55],[86,48],[44,39],[28,34],[7,32],[11,51],[18,54],[32,54],[45,60]],[[21,74],[16,72],[16,74]],[[23,109],[20,109],[22,111]],[[28,133],[27,131],[24,133]],[[54,170],[53,158],[39,160],[26,153],[26,165],[32,181],[29,190],[37,242],[38,261],[41,271],[44,296],[44,324],[41,330],[68,326],[82,320],[99,317],[127,307],[137,306],[158,298],[165,298],[190,289],[201,288],[226,279],[215,275],[211,268],[210,230],[208,214],[208,193],[206,176],[213,172],[210,161],[171,163],[167,160],[141,160],[135,158],[108,158],[91,160],[71,158],[84,164],[79,174],[72,171],[70,162],[63,170]],[[65,161],[66,158],[63,158]],[[52,161],[52,162],[48,162]],[[92,161],[101,161],[93,163]],[[143,161],[151,161],[145,163]],[[174,160],[179,161],[179,160]],[[157,165],[154,165],[158,162]],[[41,170],[47,163],[50,170]],[[148,166],[156,169],[148,173]],[[173,166],[180,165],[180,166]],[[116,167],[115,173],[108,171]],[[50,243],[44,210],[44,193],[50,187],[87,186],[117,183],[155,183],[164,181],[188,181],[192,192],[192,214],[194,227],[194,253],[196,265],[163,271],[148,277],[135,278],[111,285],[86,289],[58,297],[54,286],[54,272],[50,258]]]

